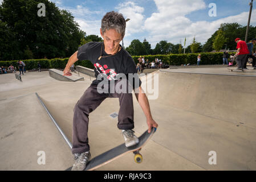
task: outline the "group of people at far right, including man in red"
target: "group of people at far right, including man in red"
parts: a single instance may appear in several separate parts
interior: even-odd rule
[[[235,43],[237,43],[237,52],[235,55],[234,53],[231,53],[229,56],[229,53],[225,51],[223,54],[223,65],[227,64],[230,67],[234,64],[234,61],[236,61],[238,66],[236,69],[247,69],[247,61],[251,59],[253,69],[256,69],[256,51],[253,53],[253,46],[256,43],[256,38],[252,39],[247,44],[240,38],[236,38]],[[228,58],[230,58],[230,61],[228,61]]]

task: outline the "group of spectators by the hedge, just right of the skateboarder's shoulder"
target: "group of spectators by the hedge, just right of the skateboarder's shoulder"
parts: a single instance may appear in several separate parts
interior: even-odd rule
[[[145,57],[139,57],[139,63],[137,63],[137,72],[142,73],[143,69],[150,68],[162,68],[162,60],[155,58],[155,61],[150,62],[148,59],[145,60]]]

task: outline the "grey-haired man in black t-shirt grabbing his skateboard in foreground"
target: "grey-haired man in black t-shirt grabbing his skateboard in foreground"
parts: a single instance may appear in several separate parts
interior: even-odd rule
[[[118,80],[118,75],[128,76],[131,73],[132,75],[134,74],[133,76],[135,76],[137,82],[132,84],[132,87],[139,90],[139,92],[135,93],[135,96],[147,118],[148,132],[151,132],[152,127],[158,126],[152,118],[147,96],[142,93],[141,81],[136,73],[135,62],[131,55],[119,44],[124,38],[125,27],[126,23],[122,14],[114,11],[105,14],[101,20],[100,28],[100,34],[104,41],[90,42],[79,47],[78,51],[70,57],[63,71],[63,75],[70,76],[72,75],[70,67],[78,59],[90,60],[95,67],[94,72],[97,78],[92,81],[92,84],[84,92],[74,108],[72,154],[74,155],[75,164],[72,170],[83,170],[86,168],[88,160],[90,160],[91,154],[87,136],[88,116],[107,97],[119,98],[120,110],[117,127],[123,131],[125,145],[128,147],[139,142],[139,139],[133,134],[134,131],[132,130],[134,128],[132,93],[117,93],[115,90],[109,93],[109,88],[110,90],[112,89],[111,83],[109,84],[111,81],[115,81],[115,86],[120,82],[131,86],[129,84],[131,80],[127,81],[123,78]],[[101,78],[107,81],[101,81]],[[104,90],[108,91],[107,93],[98,92],[98,90],[102,89],[102,83],[104,83],[104,89],[105,85],[110,85]]]

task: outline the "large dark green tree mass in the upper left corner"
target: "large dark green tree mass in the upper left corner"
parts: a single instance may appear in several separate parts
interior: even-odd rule
[[[46,16],[38,16],[38,3]],[[5,0],[0,19],[0,60],[71,56],[85,35],[70,12],[47,0]]]

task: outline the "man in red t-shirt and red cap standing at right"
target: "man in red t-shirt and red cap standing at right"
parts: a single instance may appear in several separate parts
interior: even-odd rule
[[[246,42],[241,40],[240,38],[235,39],[235,43],[237,43],[237,53],[235,53],[235,56],[237,57],[237,69],[244,69],[245,61],[247,54],[249,54]]]

